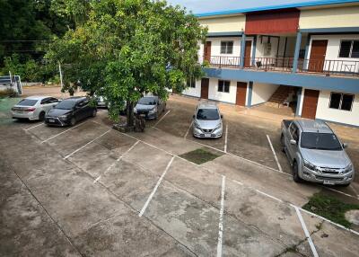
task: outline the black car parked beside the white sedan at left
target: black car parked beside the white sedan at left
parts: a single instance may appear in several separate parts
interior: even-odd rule
[[[74,126],[79,120],[95,117],[96,113],[96,107],[91,106],[86,97],[71,97],[48,111],[45,123],[52,126]]]

